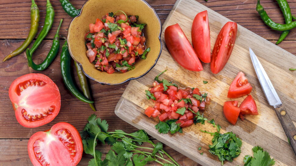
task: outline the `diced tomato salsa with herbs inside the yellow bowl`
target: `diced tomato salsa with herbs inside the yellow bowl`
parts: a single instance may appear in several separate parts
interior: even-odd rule
[[[150,51],[142,33],[146,24],[137,24],[138,16],[115,14],[108,13],[102,19],[96,19],[89,24],[85,34],[89,62],[109,74],[134,69],[135,61],[146,59]]]

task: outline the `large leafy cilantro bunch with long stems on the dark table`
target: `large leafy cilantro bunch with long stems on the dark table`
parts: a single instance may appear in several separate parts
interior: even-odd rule
[[[122,130],[107,132],[108,127],[106,120],[101,120],[93,114],[80,132],[84,152],[94,157],[88,162],[88,166],[144,166],[149,161],[156,161],[164,166],[180,166],[163,150],[162,143],[153,143],[144,130],[133,133]],[[105,159],[102,159],[102,153],[96,150],[98,141],[111,146]],[[144,142],[150,143],[153,148],[141,146]],[[147,151],[142,151],[143,149]],[[166,160],[164,155],[172,162]],[[160,159],[167,163],[161,162]]]

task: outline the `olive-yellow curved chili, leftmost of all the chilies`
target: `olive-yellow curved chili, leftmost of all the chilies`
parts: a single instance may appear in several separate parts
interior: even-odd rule
[[[10,59],[10,58],[16,56],[16,55],[19,55],[20,53],[22,53],[29,46],[29,44],[32,42],[32,40],[34,39],[34,37],[36,36],[36,34],[38,32],[39,17],[40,16],[39,16],[38,6],[34,2],[34,0],[32,0],[32,5],[31,5],[31,28],[30,28],[29,35],[28,35],[27,39],[23,42],[23,44],[19,48],[17,48],[13,52],[11,52],[9,55],[7,55],[3,59],[3,62],[6,61],[7,59]]]

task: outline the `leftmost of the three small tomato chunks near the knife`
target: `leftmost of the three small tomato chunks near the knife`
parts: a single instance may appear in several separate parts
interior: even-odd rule
[[[238,101],[226,101],[223,106],[223,113],[225,118],[231,124],[235,125],[238,115],[240,114],[240,108],[237,107]]]

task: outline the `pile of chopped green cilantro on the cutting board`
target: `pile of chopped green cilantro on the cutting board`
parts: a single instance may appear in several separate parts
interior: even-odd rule
[[[209,121],[212,125],[215,124],[213,120]],[[221,164],[223,165],[225,160],[230,162],[233,161],[233,158],[236,158],[240,155],[240,147],[242,146],[242,141],[236,137],[236,134],[233,132],[226,132],[225,134],[220,134],[220,125],[215,124],[217,127],[217,132],[207,132],[200,130],[205,133],[209,133],[214,138],[212,139],[212,145],[209,145],[211,154],[218,156]]]

